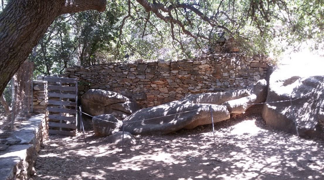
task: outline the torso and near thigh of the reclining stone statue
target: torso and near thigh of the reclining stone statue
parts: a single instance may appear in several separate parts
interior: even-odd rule
[[[210,107],[214,111],[214,122],[229,118],[225,106],[173,101],[136,111],[124,119],[125,131],[131,134],[161,135],[182,128],[193,129],[199,125],[211,124]]]

